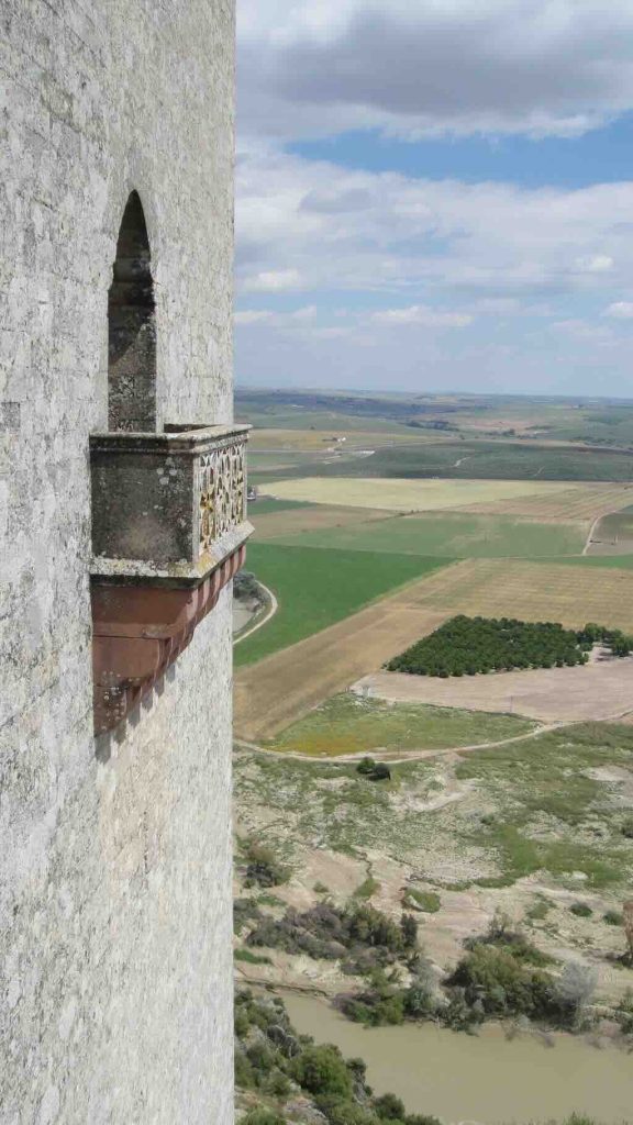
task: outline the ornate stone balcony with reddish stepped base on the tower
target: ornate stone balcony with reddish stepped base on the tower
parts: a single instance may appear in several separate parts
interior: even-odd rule
[[[242,566],[249,429],[90,436],[96,734],[137,706]]]

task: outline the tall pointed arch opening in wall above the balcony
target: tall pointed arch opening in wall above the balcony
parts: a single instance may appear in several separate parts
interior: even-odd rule
[[[157,331],[150,240],[137,191],[121,223],[108,292],[108,429],[157,428]]]

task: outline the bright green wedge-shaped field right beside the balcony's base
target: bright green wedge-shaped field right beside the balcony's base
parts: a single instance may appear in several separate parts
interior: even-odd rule
[[[414,555],[251,543],[248,569],[275,593],[279,609],[264,629],[237,647],[235,664],[252,664],[287,648],[449,561]]]

